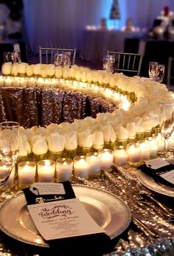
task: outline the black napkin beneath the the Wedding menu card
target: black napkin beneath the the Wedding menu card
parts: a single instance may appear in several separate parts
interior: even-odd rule
[[[24,188],[24,196],[27,200],[27,204],[44,203],[44,201],[57,201],[75,198],[74,190],[69,181],[61,182],[65,189],[65,195],[35,195],[29,188]],[[40,201],[41,198],[44,201]],[[40,201],[40,202],[39,202]],[[49,244],[50,250],[54,251],[58,249],[59,252],[63,252],[63,255],[95,255],[101,256],[104,253],[111,252],[114,249],[114,245],[111,242],[111,238],[105,234],[105,232],[80,235],[71,238],[59,238],[46,241]]]

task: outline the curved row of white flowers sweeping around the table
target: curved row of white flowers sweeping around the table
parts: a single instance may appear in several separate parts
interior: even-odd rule
[[[27,63],[4,63],[2,73],[5,76],[22,76],[27,81],[32,77],[64,78],[83,83],[94,83],[108,86],[119,91],[134,92],[136,102],[128,108],[116,109],[113,113],[100,113],[97,118],[86,117],[74,120],[71,124],[63,122],[44,127],[32,127],[20,130],[20,156],[32,151],[42,155],[47,151],[59,152],[64,149],[75,150],[77,146],[98,148],[104,142],[132,139],[136,134],[151,131],[159,125],[161,102],[173,101],[173,95],[164,84],[153,82],[145,77],[127,77],[122,73],[109,74],[102,70],[91,70],[85,67],[71,68],[46,64],[29,65]],[[30,77],[30,78],[29,78]],[[25,83],[25,86],[27,86]],[[28,83],[29,84],[29,83]]]

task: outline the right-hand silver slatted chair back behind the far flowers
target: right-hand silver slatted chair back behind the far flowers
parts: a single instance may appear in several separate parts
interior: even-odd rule
[[[122,72],[125,75],[138,75],[142,67],[142,55],[126,52],[112,52],[107,50],[106,55],[114,56],[114,72]]]

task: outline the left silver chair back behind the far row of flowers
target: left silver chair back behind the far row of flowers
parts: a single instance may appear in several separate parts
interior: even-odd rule
[[[75,63],[75,56],[77,49],[63,49],[63,48],[50,48],[50,47],[38,47],[39,51],[39,62],[40,63],[46,63],[46,64],[52,64],[54,63],[54,55],[55,54],[63,54],[65,52],[71,53],[71,63],[74,65]]]

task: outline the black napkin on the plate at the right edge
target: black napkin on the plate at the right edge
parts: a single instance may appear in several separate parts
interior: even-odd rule
[[[164,185],[174,187],[173,183],[171,183],[170,181],[167,181],[166,179],[164,179],[161,176],[161,174],[163,174],[163,173],[168,173],[170,170],[174,170],[174,165],[172,165],[172,164],[166,165],[164,167],[160,167],[156,170],[154,170],[150,166],[148,167],[146,164],[143,164],[143,165],[140,165],[139,167],[137,167],[137,169],[142,170],[144,173],[147,173],[147,175],[152,176],[153,179],[155,179],[156,181],[160,181]]]

